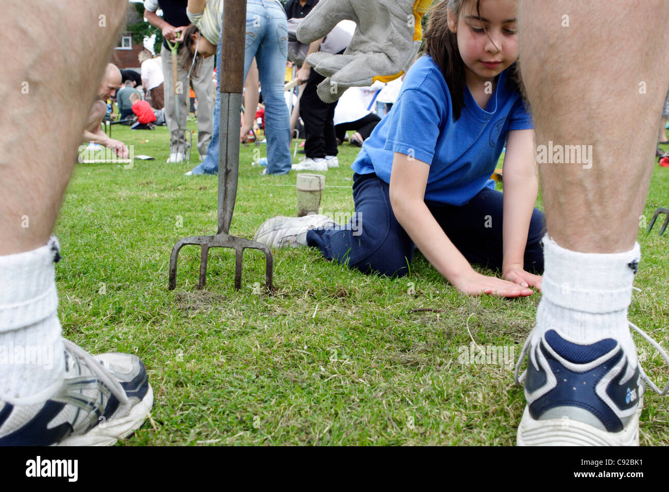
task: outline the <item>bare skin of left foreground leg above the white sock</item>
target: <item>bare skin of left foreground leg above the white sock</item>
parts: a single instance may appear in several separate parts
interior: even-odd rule
[[[0,31],[12,55],[1,62],[0,255],[43,246],[52,233],[121,7],[112,0],[3,1]]]

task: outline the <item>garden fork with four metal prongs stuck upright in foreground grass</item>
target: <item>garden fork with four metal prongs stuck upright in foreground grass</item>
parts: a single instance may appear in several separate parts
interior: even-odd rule
[[[221,46],[221,119],[218,163],[218,232],[213,236],[183,238],[174,245],[169,264],[169,289],[177,286],[177,257],[186,244],[201,246],[199,289],[207,282],[209,248],[235,250],[235,289],[242,287],[242,260],[244,249],[265,253],[265,282],[272,291],[272,252],[256,241],[230,236],[230,222],[237,197],[237,178],[240,167],[240,107],[244,85],[244,48],[246,39],[246,0],[225,0],[223,9],[223,46]],[[226,56],[235,53],[237,56]],[[241,56],[240,56],[241,54]]]

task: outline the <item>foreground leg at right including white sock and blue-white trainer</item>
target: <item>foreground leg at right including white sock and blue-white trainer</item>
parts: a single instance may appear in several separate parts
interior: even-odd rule
[[[628,307],[669,84],[668,16],[664,0],[520,3],[549,238],[518,444],[639,443]]]

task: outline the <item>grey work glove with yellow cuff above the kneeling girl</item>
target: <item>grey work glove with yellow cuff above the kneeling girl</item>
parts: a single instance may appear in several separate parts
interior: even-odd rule
[[[432,0],[320,0],[300,24],[297,37],[308,44],[344,19],[357,27],[343,55],[311,54],[306,61],[327,78],[318,96],[334,102],[353,86],[390,82],[409,70],[421,44],[421,18]]]

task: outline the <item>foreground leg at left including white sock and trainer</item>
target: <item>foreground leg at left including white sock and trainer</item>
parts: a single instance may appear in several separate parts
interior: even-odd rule
[[[145,420],[153,390],[136,356],[93,359],[62,339],[58,248],[47,241],[128,3],[5,0],[2,8],[11,56],[0,58],[0,347],[45,358],[0,365],[0,445],[114,444]],[[92,426],[100,415],[111,424]],[[56,432],[53,422],[62,422]]]

